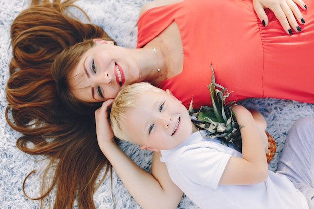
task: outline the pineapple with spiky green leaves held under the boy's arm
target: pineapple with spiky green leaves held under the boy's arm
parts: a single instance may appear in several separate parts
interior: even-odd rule
[[[211,83],[208,85],[208,90],[210,93],[212,107],[202,106],[198,112],[193,110],[193,98],[189,107],[190,116],[194,115],[198,121],[193,121],[193,123],[200,129],[206,130],[206,135],[203,137],[217,138],[221,140],[224,145],[229,145],[229,143],[234,144],[239,151],[242,151],[242,139],[240,134],[240,128],[234,112],[231,110],[231,106],[235,104],[235,101],[229,102],[228,106],[225,104],[226,98],[230,93],[228,90],[215,83],[214,69],[211,65],[212,77]],[[266,132],[268,136],[268,153],[267,161],[268,163],[273,158],[276,150],[276,142],[271,135]]]

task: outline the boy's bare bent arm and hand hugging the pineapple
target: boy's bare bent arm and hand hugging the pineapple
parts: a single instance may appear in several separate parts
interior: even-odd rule
[[[242,136],[242,158],[231,156],[221,176],[219,184],[248,185],[265,181],[268,176],[268,164],[261,130],[265,128],[263,120],[253,112],[257,123],[249,110],[236,105],[233,107]],[[264,131],[264,130],[263,130]]]

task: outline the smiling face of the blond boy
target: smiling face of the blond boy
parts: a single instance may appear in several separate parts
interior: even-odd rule
[[[138,103],[137,109],[127,110],[123,125],[131,142],[142,149],[172,149],[191,135],[189,113],[170,91],[149,90]]]

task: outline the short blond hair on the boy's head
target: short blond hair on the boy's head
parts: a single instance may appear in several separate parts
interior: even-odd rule
[[[142,82],[126,86],[115,97],[110,113],[110,123],[114,135],[125,141],[131,141],[124,131],[123,124],[128,117],[126,112],[129,108],[137,108],[139,101],[149,90],[160,90],[150,83]],[[132,142],[132,141],[131,141]]]

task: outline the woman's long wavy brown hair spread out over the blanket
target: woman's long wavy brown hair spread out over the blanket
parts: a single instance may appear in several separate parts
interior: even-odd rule
[[[40,200],[41,208],[54,187],[54,208],[70,209],[76,199],[79,208],[95,208],[98,175],[104,166],[102,180],[112,172],[97,144],[94,113],[77,114],[65,108],[50,72],[56,56],[65,48],[92,38],[112,40],[100,27],[83,24],[71,15],[67,7],[76,7],[74,1],[33,0],[11,26],[13,58],[6,86],[6,120],[23,134],[16,143],[20,150],[50,159],[43,179],[49,168],[56,166],[51,185],[45,187],[43,180],[39,197],[29,197]],[[22,187],[28,196],[25,180]]]

